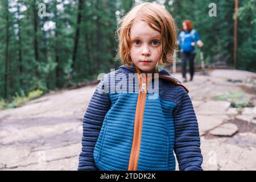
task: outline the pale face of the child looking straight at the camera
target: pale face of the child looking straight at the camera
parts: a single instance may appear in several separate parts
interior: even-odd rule
[[[143,73],[154,73],[162,52],[160,32],[137,20],[130,28],[131,60]],[[147,61],[144,61],[147,60]]]

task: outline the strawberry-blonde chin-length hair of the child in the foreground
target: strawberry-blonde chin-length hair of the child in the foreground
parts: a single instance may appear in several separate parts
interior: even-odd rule
[[[119,44],[115,60],[121,59],[123,64],[129,66],[133,64],[130,57],[132,46],[130,28],[135,20],[144,20],[151,28],[160,32],[160,42],[163,42],[163,44],[158,63],[166,65],[172,62],[177,39],[175,20],[164,6],[150,2],[134,6],[129,13],[118,21],[115,35],[118,35]]]

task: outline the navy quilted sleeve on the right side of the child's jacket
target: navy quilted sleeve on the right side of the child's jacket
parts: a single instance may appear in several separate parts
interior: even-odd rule
[[[203,170],[203,155],[197,118],[188,93],[177,86],[176,107],[173,111],[175,126],[174,151],[180,171]]]

